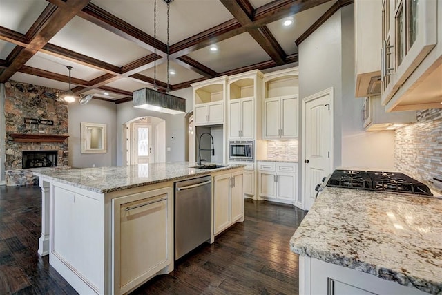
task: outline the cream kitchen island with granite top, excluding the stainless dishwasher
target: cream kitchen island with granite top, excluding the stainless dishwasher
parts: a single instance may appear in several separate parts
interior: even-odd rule
[[[244,220],[244,204],[238,202],[244,166],[193,166],[177,162],[35,173],[42,194],[39,254],[49,254],[50,265],[80,294],[126,294],[171,272],[175,182],[211,175],[210,242],[218,234],[215,216],[233,211],[215,208],[218,190],[229,196],[236,191],[236,201],[227,200],[241,206],[235,218],[227,211],[224,228]]]

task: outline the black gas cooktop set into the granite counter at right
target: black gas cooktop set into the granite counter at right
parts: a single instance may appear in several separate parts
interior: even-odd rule
[[[400,172],[335,170],[327,186],[433,196],[425,184]]]

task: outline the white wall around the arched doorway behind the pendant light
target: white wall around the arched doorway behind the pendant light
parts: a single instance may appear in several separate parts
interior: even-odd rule
[[[189,100],[193,99],[192,88],[185,88],[180,91],[171,93],[178,97],[186,99],[186,111],[189,111],[193,103]],[[160,117],[166,121],[166,162],[184,161],[184,144],[185,132],[187,129],[185,114],[169,115],[154,111],[143,110],[141,108],[134,108],[132,102],[125,102],[124,104],[117,104],[117,165],[122,165],[122,128],[123,124],[136,117]]]

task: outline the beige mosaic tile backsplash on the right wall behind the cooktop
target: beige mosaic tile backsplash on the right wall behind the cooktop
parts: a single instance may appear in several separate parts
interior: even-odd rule
[[[417,112],[417,122],[394,132],[396,169],[436,187],[442,180],[442,108]],[[439,182],[442,187],[442,182]]]

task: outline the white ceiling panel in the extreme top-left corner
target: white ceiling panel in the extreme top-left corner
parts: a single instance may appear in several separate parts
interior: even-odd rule
[[[0,26],[26,34],[46,6],[45,0],[0,0]]]

